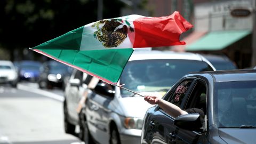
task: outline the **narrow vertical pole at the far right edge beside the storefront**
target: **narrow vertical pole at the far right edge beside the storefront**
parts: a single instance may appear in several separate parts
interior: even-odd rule
[[[253,20],[253,28],[252,28],[252,62],[251,66],[256,66],[256,0],[252,0],[253,10],[252,10],[252,20]]]

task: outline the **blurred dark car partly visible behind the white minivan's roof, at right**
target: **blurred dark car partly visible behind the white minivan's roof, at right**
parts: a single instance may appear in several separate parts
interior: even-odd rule
[[[202,54],[204,58],[209,60],[216,70],[238,69],[235,62],[231,61],[226,55]]]

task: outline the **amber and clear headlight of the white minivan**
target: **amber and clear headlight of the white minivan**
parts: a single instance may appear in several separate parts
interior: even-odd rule
[[[126,129],[142,129],[143,119],[136,117],[126,117],[124,126]]]

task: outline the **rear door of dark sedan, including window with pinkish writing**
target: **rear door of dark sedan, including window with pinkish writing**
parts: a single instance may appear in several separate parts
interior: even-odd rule
[[[185,79],[167,93],[164,97],[165,100],[177,105],[178,107],[183,107],[186,97],[193,85],[193,79]],[[151,127],[151,142],[152,143],[171,143],[175,139],[176,127],[174,126],[174,117],[167,114],[161,108],[157,108],[154,113],[154,118],[151,118],[149,122]]]

